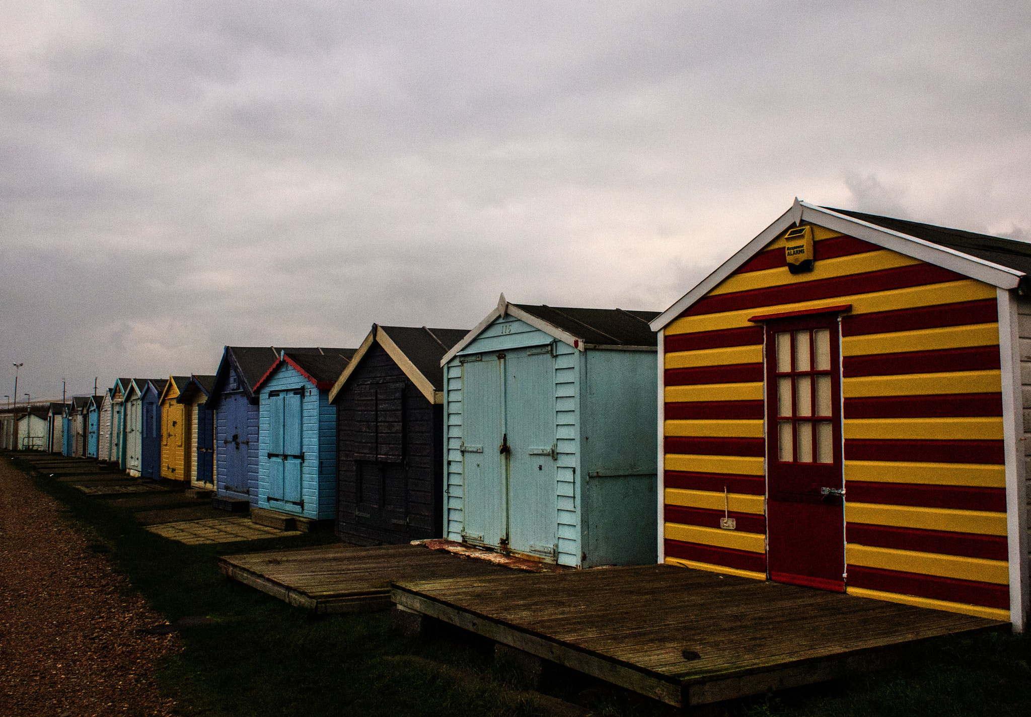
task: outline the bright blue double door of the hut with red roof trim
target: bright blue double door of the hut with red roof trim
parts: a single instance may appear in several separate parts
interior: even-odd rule
[[[270,391],[268,396],[268,500],[274,507],[303,507],[303,388]]]

